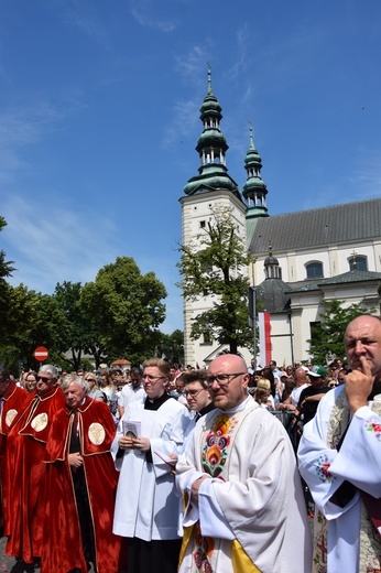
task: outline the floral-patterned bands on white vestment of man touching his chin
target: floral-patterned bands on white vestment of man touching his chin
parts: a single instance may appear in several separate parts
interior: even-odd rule
[[[375,397],[371,409],[378,415],[381,415],[381,398]],[[349,406],[345,391],[340,392],[336,398],[335,404],[330,412],[327,429],[327,445],[331,450],[336,450],[344,432],[349,423]],[[368,431],[374,431],[378,439],[378,428],[373,428],[371,420],[366,421],[364,426]],[[362,501],[361,502],[361,521],[360,521],[360,573],[379,573],[381,563],[381,539],[377,533]],[[327,551],[328,551],[328,527],[327,520],[320,510],[315,513],[314,522],[314,572],[327,573]]]

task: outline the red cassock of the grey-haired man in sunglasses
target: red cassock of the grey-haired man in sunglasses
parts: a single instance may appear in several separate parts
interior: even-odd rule
[[[65,406],[61,388],[30,394],[24,410],[8,434],[6,472],[7,554],[33,563],[41,555],[45,494],[41,488],[47,434],[54,414]],[[10,483],[11,482],[11,483]]]

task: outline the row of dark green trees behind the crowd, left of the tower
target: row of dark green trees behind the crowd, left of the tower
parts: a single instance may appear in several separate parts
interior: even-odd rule
[[[6,225],[0,216],[0,231]],[[161,340],[173,357],[183,355],[183,333],[159,331],[165,318],[164,285],[153,272],[142,274],[132,258],[107,264],[85,286],[57,283],[53,294],[11,286],[7,278],[13,270],[1,250],[0,363],[11,371],[37,368],[37,346],[46,346],[56,366],[75,370],[85,364],[85,355],[94,357],[96,367],[121,357],[139,364],[159,352]]]

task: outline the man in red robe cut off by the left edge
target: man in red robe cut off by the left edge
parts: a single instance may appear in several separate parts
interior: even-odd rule
[[[7,473],[4,472],[7,436],[28,398],[28,392],[15,386],[9,371],[0,366],[0,528],[4,527],[3,491],[7,488]]]

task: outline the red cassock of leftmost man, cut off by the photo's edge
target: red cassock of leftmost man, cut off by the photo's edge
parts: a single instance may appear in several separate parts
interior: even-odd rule
[[[7,447],[7,437],[11,425],[14,421],[17,421],[20,412],[22,411],[26,400],[29,398],[29,393],[23,388],[15,386],[14,382],[8,389],[8,392],[2,396],[2,408],[0,413],[0,526],[4,525],[4,512],[3,504],[6,501],[6,497],[3,496],[3,491],[7,490],[7,473],[6,473],[6,447]]]

